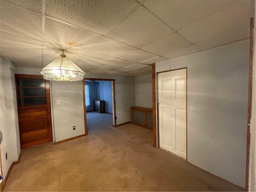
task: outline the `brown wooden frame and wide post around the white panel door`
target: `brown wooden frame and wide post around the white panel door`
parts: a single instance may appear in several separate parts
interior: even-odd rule
[[[181,69],[186,69],[186,161],[188,161],[188,67],[156,72],[156,65],[152,64],[153,140],[154,140],[153,146],[159,148],[159,110],[158,110],[158,105],[156,106],[156,103],[157,103],[156,100],[158,99],[158,78],[156,79],[156,77],[160,73],[176,71]],[[156,118],[158,119],[157,124],[156,124]]]

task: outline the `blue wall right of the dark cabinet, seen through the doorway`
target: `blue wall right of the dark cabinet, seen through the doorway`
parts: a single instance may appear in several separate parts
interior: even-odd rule
[[[111,81],[99,81],[99,98],[105,101],[105,112],[112,112],[112,87]]]

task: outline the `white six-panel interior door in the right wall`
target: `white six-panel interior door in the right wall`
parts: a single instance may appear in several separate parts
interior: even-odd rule
[[[158,74],[159,146],[186,159],[186,69]]]

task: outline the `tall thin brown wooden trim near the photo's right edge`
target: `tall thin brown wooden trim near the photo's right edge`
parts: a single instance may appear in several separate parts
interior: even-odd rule
[[[246,141],[246,173],[245,190],[249,190],[249,163],[250,163],[250,139],[251,139],[251,118],[252,118],[252,70],[253,70],[253,29],[254,18],[250,18],[250,49],[249,49],[249,80],[248,80],[248,110],[247,110],[247,141]]]

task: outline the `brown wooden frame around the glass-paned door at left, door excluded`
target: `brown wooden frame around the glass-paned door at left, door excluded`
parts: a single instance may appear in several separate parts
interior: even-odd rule
[[[20,106],[19,106],[19,100],[18,100],[18,84],[17,84],[17,78],[23,78],[23,79],[43,79],[46,84],[45,84],[45,90],[46,90],[46,109],[48,109],[48,111],[50,112],[50,114],[47,114],[47,116],[50,116],[50,122],[49,122],[49,126],[50,126],[50,129],[48,129],[49,131],[49,135],[50,135],[50,141],[48,142],[53,142],[53,135],[52,135],[52,110],[51,110],[51,95],[50,95],[50,81],[49,80],[45,80],[43,78],[43,76],[41,75],[26,75],[26,74],[15,74],[15,88],[16,88],[16,99],[17,99],[17,112],[19,111],[20,109]],[[47,95],[49,96],[49,99],[47,99]],[[32,107],[28,107],[30,109],[32,109]],[[19,118],[19,117],[18,117]],[[18,121],[19,123],[19,130],[20,130],[20,122]],[[39,143],[41,144],[41,143]],[[38,145],[38,144],[35,144],[35,145]],[[35,146],[34,145],[34,146]],[[30,147],[30,146],[29,146]],[[21,147],[20,147],[21,148]],[[28,148],[28,147],[27,147]]]

